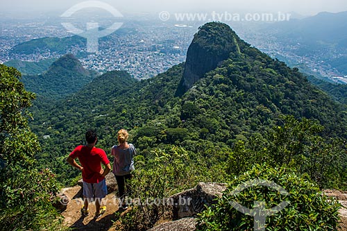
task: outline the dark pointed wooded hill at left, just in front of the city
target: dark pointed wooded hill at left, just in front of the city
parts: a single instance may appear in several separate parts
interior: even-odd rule
[[[53,62],[43,74],[22,76],[22,82],[31,92],[59,99],[78,92],[95,76],[96,73],[85,69],[74,55],[67,54]]]

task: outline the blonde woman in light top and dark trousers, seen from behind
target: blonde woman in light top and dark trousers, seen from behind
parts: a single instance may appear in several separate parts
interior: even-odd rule
[[[117,136],[119,145],[113,146],[111,151],[111,154],[115,157],[112,172],[115,174],[117,180],[119,198],[123,209],[128,208],[124,201],[126,196],[125,187],[127,189],[126,191],[129,193],[130,187],[128,181],[131,179],[131,171],[135,170],[133,157],[136,154],[136,150],[133,144],[128,144],[128,142],[126,142],[128,136],[127,130],[119,130]]]

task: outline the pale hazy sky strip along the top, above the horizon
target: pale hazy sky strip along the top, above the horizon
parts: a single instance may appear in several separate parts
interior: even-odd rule
[[[0,11],[53,11],[64,12],[83,0],[1,0]],[[198,12],[218,10],[219,12],[298,12],[301,15],[315,15],[318,12],[347,11],[346,0],[104,0],[120,12]]]

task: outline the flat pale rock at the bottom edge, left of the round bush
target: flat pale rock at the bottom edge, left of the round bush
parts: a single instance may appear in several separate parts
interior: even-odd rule
[[[194,218],[185,218],[178,221],[170,221],[161,225],[155,226],[148,231],[194,231],[196,221]]]

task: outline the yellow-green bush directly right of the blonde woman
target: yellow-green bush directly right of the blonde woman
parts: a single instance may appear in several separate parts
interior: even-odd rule
[[[172,146],[169,150],[156,149],[154,157],[135,170],[131,180],[132,209],[119,214],[117,230],[148,230],[169,212],[169,200],[195,184],[194,168],[187,166],[187,152]],[[129,200],[129,199],[128,199]]]

